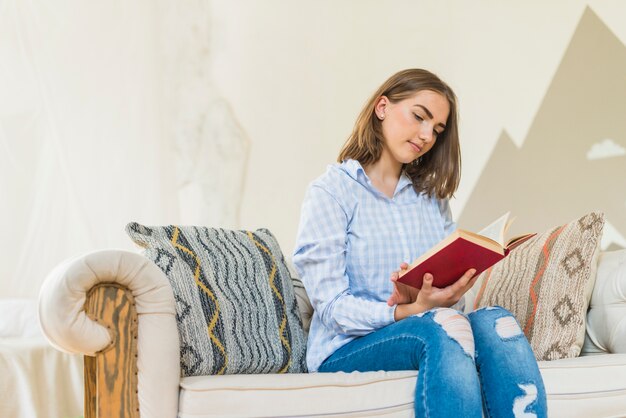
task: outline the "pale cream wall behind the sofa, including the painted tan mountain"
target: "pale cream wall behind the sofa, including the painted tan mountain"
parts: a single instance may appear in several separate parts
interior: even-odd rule
[[[407,67],[459,96],[462,226],[512,209],[541,229],[600,209],[605,245],[626,247],[623,1],[8,4],[0,298],[35,297],[76,254],[134,249],[129,221],[268,227],[289,254],[307,184]],[[508,176],[519,193],[494,192],[516,164],[532,168]]]

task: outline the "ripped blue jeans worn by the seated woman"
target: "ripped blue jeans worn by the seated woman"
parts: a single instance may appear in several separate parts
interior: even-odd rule
[[[416,417],[547,416],[533,352],[500,307],[467,317],[449,308],[412,316],[335,351],[320,372],[419,370]]]

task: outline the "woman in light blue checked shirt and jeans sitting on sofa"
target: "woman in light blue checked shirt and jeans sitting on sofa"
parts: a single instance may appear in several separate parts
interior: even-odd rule
[[[474,270],[442,289],[429,274],[419,291],[396,282],[397,266],[455,229],[448,199],[461,158],[450,87],[425,70],[393,75],[338,162],[307,191],[294,253],[315,309],[309,370],[419,370],[417,417],[545,417],[541,375],[513,316],[454,309]]]

